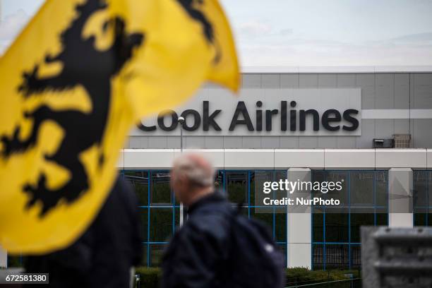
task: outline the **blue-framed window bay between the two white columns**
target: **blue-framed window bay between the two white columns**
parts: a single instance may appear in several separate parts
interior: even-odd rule
[[[388,224],[388,171],[312,171],[312,181],[341,179],[344,183],[340,212],[340,208],[313,206],[311,255],[315,270],[358,268],[361,225]]]

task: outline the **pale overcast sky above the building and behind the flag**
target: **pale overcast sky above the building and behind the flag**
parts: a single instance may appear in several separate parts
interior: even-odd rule
[[[0,1],[1,54],[43,1]],[[220,1],[242,66],[432,65],[432,0]]]

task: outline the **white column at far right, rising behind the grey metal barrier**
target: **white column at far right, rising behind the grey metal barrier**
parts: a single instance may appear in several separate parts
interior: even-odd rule
[[[388,226],[413,227],[412,169],[391,168],[388,184]]]

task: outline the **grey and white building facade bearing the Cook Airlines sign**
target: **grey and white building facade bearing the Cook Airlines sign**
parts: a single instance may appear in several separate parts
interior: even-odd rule
[[[212,160],[217,185],[233,203],[244,203],[245,215],[272,228],[289,267],[356,268],[361,225],[427,225],[432,73],[422,69],[249,69],[237,97],[206,85],[175,114],[143,119],[131,131],[119,169],[148,188],[142,206],[148,229],[144,264],[158,265],[164,237],[179,221],[179,204],[164,190],[163,179],[180,153],[180,115],[186,118],[185,150]],[[382,144],[389,148],[376,148]],[[287,213],[278,207],[256,213],[253,186],[260,172],[294,181],[346,179],[349,212],[314,207]],[[378,191],[385,198],[379,200]],[[157,193],[166,193],[166,200],[160,202]],[[401,194],[409,196],[402,203]],[[375,212],[361,213],[362,200],[361,207]],[[406,210],[392,209],[395,205]],[[167,215],[157,217],[163,209]],[[164,233],[153,227],[164,224]]]

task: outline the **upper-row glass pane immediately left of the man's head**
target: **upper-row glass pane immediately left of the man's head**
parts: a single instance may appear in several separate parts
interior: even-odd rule
[[[150,190],[151,205],[171,205],[172,193],[169,186],[169,172],[152,172]]]

